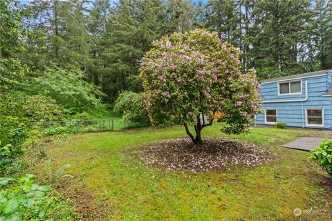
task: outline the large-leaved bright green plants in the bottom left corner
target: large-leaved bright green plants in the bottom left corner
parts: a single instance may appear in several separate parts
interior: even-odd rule
[[[35,182],[27,174],[19,180],[0,178],[0,220],[73,220],[77,215],[50,186]]]

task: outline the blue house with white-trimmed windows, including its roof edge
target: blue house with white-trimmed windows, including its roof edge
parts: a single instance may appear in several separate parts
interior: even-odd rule
[[[256,124],[332,129],[332,70],[261,81],[263,111]]]

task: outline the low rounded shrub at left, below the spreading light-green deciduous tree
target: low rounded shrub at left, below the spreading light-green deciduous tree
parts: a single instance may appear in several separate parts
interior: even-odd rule
[[[28,97],[23,105],[24,115],[31,122],[65,119],[64,108],[57,105],[54,99],[42,95]]]

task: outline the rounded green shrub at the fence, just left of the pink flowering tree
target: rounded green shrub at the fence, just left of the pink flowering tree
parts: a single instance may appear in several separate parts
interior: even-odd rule
[[[147,122],[147,111],[142,99],[141,93],[124,91],[116,99],[113,111],[130,122]]]

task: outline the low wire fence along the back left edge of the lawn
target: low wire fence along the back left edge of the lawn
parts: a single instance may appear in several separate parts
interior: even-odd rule
[[[61,133],[121,131],[126,128],[149,126],[149,119],[72,119],[63,121],[29,122],[31,128],[42,135],[57,135]]]

